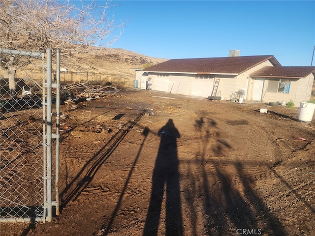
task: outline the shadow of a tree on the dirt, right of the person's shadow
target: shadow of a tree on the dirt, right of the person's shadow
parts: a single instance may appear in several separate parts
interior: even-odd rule
[[[270,212],[253,189],[254,181],[246,173],[242,162],[216,160],[232,149],[228,142],[221,139],[216,121],[201,117],[195,120],[194,127],[200,134],[199,150],[194,160],[200,176],[189,177],[189,183],[184,187],[186,201],[191,210],[191,222],[197,215],[193,201],[193,196],[197,196],[203,199],[205,235],[242,234],[243,229],[257,234],[287,235],[279,219]],[[213,135],[215,132],[217,134]],[[209,148],[213,153],[211,158],[207,156]],[[188,167],[187,173],[190,172]],[[264,222],[263,227],[261,222]],[[196,229],[193,228],[192,232],[193,236],[198,235]]]

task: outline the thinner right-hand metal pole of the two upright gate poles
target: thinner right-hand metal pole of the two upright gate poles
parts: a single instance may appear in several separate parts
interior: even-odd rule
[[[59,215],[59,135],[60,135],[60,49],[56,49],[56,79],[57,79],[57,88],[56,88],[56,215]]]

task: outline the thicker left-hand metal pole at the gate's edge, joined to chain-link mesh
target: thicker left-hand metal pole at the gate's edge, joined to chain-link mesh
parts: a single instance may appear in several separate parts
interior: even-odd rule
[[[47,221],[51,222],[52,220],[52,196],[51,196],[51,177],[52,177],[52,171],[51,171],[51,145],[52,145],[52,114],[51,114],[51,105],[52,105],[52,91],[51,91],[51,49],[46,49],[46,55],[47,55],[47,82],[46,82],[46,88],[47,88],[47,102],[46,102],[46,110],[47,110],[47,132],[46,132],[46,148],[47,148]]]

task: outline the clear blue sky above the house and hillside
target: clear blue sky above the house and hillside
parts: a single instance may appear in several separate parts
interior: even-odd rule
[[[101,3],[98,2],[98,3]],[[315,1],[113,0],[108,14],[127,21],[111,48],[165,59],[274,55],[283,66],[310,66]],[[313,66],[315,59],[313,60]]]

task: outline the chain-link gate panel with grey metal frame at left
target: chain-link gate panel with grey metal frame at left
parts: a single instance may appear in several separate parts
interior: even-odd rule
[[[54,122],[51,112],[52,104],[58,103],[52,86],[59,85],[51,84],[51,50],[44,54],[0,49],[1,59],[8,56],[37,67],[46,65],[37,68],[42,73],[36,77],[19,70],[19,78],[0,78],[0,221],[51,221],[52,206],[58,213],[59,205],[54,184],[58,182],[58,166],[52,165],[53,160],[58,164],[59,158],[59,132],[52,133],[53,126],[59,131],[59,104]],[[52,138],[56,138],[54,142]],[[56,181],[52,182],[52,177]]]

